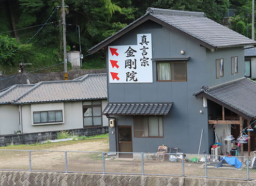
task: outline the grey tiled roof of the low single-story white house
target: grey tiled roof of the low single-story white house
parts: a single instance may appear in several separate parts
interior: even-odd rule
[[[107,75],[87,74],[78,80],[14,85],[0,93],[0,104],[107,99]]]

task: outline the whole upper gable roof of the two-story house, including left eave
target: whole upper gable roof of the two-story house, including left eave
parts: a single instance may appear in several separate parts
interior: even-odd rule
[[[205,43],[207,46],[211,46],[211,48],[225,48],[230,46],[256,44],[255,41],[241,34],[238,34],[234,30],[208,19],[203,12],[148,8],[147,12],[142,15],[142,17],[133,21],[109,38],[96,44],[88,51],[92,51],[92,53],[97,52],[104,46],[108,45],[110,41],[112,42],[118,37],[121,37],[122,33],[126,32],[126,30],[129,30],[130,27],[133,28],[135,23],[142,21],[143,19],[151,20],[151,18],[155,18],[156,20],[154,21],[158,22],[159,24],[162,24],[162,21],[167,25],[177,28],[182,33],[185,33],[188,36],[197,38],[199,41]]]

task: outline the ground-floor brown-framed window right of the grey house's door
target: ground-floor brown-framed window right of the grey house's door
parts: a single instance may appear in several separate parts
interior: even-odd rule
[[[163,137],[162,116],[134,116],[134,137]]]

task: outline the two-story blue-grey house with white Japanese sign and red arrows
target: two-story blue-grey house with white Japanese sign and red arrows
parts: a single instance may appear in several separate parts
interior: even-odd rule
[[[203,131],[200,153],[210,153],[215,132],[223,144],[238,136],[256,117],[245,45],[256,42],[203,12],[148,8],[89,49],[106,50],[110,151],[197,153]]]

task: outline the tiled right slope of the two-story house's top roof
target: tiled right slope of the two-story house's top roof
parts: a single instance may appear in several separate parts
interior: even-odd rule
[[[187,12],[159,8],[148,8],[151,15],[183,32],[217,48],[256,44],[255,41],[236,33],[213,20],[203,12]]]

